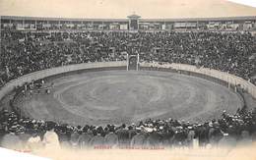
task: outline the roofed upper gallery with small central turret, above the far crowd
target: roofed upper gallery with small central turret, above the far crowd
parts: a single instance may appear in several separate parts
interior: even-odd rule
[[[127,19],[62,19],[37,17],[1,17],[2,29],[16,30],[255,30],[256,17],[142,19],[130,15]]]

